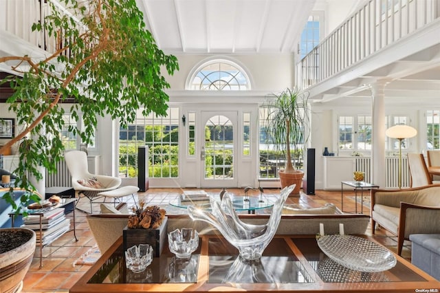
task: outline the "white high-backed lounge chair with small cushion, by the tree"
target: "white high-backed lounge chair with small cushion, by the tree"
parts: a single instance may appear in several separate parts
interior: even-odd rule
[[[83,151],[69,151],[65,153],[64,158],[72,176],[72,188],[75,190],[78,202],[82,197],[87,197],[90,200],[91,213],[92,203],[101,197],[98,193],[111,191],[121,184],[120,177],[89,173],[87,154]]]

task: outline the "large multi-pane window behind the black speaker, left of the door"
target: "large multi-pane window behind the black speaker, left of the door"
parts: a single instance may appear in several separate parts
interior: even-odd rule
[[[119,173],[121,177],[137,177],[137,147],[148,146],[148,176],[178,177],[179,109],[168,108],[165,117],[150,114],[137,118],[119,135]]]

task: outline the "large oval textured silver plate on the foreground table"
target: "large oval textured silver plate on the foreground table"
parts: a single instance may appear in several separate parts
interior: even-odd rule
[[[382,272],[397,263],[391,251],[353,235],[325,235],[318,239],[318,246],[327,257],[351,270]]]

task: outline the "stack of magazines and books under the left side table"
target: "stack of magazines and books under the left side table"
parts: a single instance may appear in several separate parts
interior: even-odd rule
[[[43,216],[28,215],[23,218],[23,225],[21,225],[23,228],[35,231],[36,243],[41,243],[45,246],[70,230],[70,219],[65,217],[64,208],[43,209],[39,213],[43,213]]]

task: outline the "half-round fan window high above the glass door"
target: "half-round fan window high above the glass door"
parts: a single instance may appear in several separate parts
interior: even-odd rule
[[[188,89],[208,91],[250,90],[248,75],[235,63],[212,60],[204,63],[192,74]]]

